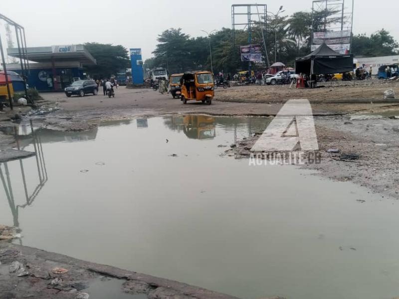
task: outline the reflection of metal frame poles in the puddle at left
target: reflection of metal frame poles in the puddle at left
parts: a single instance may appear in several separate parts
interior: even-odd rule
[[[43,188],[44,184],[47,182],[47,179],[48,179],[46,164],[44,161],[43,148],[41,145],[41,140],[40,140],[40,137],[35,134],[35,132],[33,130],[32,122],[30,122],[30,129],[31,129],[31,138],[32,138],[31,142],[33,144],[33,148],[34,148],[34,152],[35,152],[39,183],[37,184],[37,186],[35,187],[33,192],[29,195],[27,184],[26,184],[26,179],[25,179],[25,171],[23,168],[23,158],[19,158],[18,160],[19,160],[19,166],[21,169],[22,183],[23,183],[23,188],[24,188],[24,192],[25,192],[25,200],[26,200],[26,202],[24,204],[21,204],[21,205],[15,204],[14,194],[12,191],[11,176],[10,176],[10,173],[8,170],[8,164],[7,164],[7,162],[0,163],[0,179],[1,179],[1,183],[4,188],[5,195],[7,197],[9,207],[11,209],[13,225],[16,227],[19,226],[18,209],[31,205],[32,202],[34,201],[34,199],[36,198],[37,194]],[[14,129],[14,136],[15,136],[16,147],[19,150],[20,149],[19,136],[16,133],[16,128]],[[4,168],[4,171],[2,170],[2,167]]]

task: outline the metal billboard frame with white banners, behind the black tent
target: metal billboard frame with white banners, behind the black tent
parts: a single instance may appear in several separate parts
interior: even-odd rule
[[[336,44],[343,45],[344,43],[352,44],[352,29],[353,29],[353,8],[354,0],[314,0],[312,4],[312,35],[311,44],[314,43],[314,33],[315,32],[329,32],[325,34],[325,38],[328,36],[333,36],[334,38],[349,37],[350,40],[345,38],[337,40]],[[325,13],[323,13],[325,12]],[[318,20],[319,24],[316,27],[316,16],[320,17],[324,14],[324,20]],[[335,32],[335,33],[332,33]],[[341,35],[340,35],[341,32]],[[349,34],[349,36],[347,36]],[[330,44],[331,40],[330,41]],[[327,43],[327,42],[326,42]],[[328,44],[328,43],[327,43]]]

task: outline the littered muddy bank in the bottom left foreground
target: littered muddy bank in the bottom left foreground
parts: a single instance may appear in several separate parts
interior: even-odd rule
[[[4,299],[88,298],[85,294],[98,294],[97,289],[110,281],[114,282],[114,290],[103,290],[111,296],[108,298],[135,298],[133,295],[142,294],[150,299],[236,299],[175,281],[4,242],[0,242],[0,262],[0,298]]]

